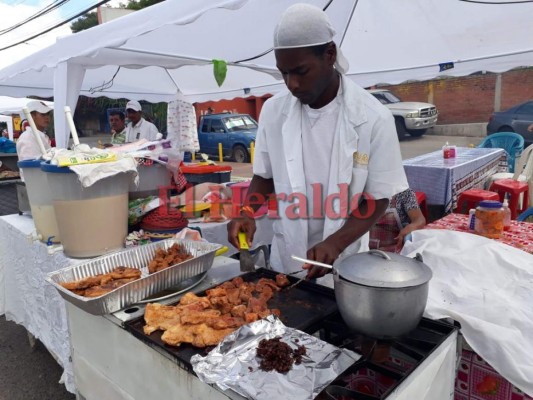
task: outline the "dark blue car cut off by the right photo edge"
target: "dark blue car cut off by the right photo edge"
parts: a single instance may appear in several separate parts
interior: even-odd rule
[[[495,132],[515,132],[527,143],[533,142],[533,132],[527,127],[533,124],[533,100],[518,104],[506,111],[492,113],[487,125],[487,135]]]

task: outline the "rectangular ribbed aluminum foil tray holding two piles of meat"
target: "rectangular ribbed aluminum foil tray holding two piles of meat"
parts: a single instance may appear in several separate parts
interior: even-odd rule
[[[156,250],[160,248],[168,250],[174,243],[183,245],[193,258],[148,274],[148,263],[154,258]],[[94,315],[110,314],[208,271],[213,265],[215,252],[221,247],[214,243],[167,239],[51,272],[46,280],[54,285],[66,301],[82,310]],[[105,274],[120,266],[140,269],[141,278],[94,298],[78,296],[59,284],[59,282],[72,282]]]

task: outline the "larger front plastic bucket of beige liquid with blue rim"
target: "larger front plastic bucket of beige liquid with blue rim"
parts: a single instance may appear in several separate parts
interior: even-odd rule
[[[68,167],[41,164],[66,256],[87,258],[124,247],[131,174],[119,173],[84,188]]]

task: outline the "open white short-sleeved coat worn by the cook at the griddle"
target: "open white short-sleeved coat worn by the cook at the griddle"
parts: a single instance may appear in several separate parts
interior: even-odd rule
[[[327,195],[341,192],[348,185],[349,199],[363,192],[375,199],[389,199],[408,188],[394,118],[391,112],[366,90],[347,78],[341,79],[341,109],[333,139]],[[261,110],[256,138],[254,174],[272,178],[276,196],[305,193],[302,156],[302,103],[288,90],[267,100]],[[331,134],[331,132],[328,132]],[[326,134],[328,134],[326,133]],[[348,200],[349,200],[348,199]],[[294,202],[278,201],[279,219],[274,221],[272,267],[282,272],[301,269],[292,254],[307,254],[308,223],[305,218],[290,218]],[[335,202],[333,211],[341,212]],[[338,231],[344,218],[325,216],[323,239]],[[339,259],[368,250],[368,233],[348,246]]]

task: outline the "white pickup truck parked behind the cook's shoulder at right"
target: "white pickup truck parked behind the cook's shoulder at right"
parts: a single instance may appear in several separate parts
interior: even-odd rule
[[[417,101],[401,101],[398,96],[390,90],[374,89],[369,92],[384,104],[392,115],[396,123],[398,138],[403,139],[406,134],[413,137],[420,137],[428,128],[437,124],[439,113],[437,107],[430,103]]]

